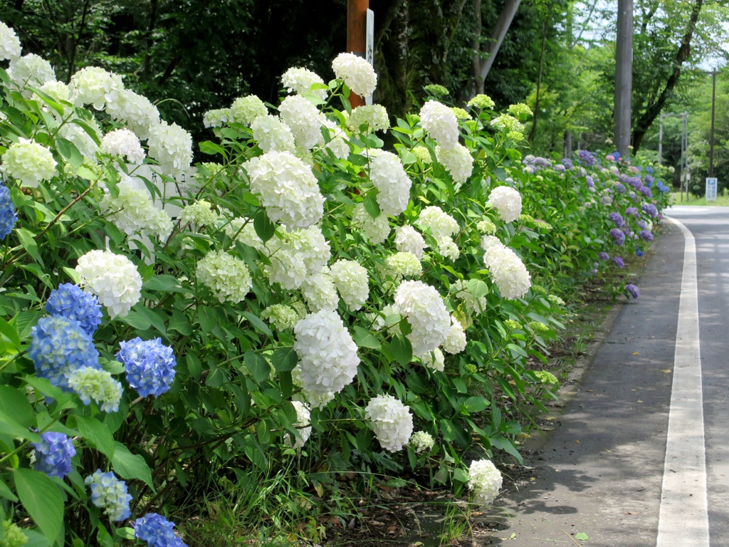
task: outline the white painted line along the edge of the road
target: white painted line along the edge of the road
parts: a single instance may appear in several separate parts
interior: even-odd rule
[[[656,547],[709,547],[696,244],[685,225],[666,219],[681,228],[686,247]]]

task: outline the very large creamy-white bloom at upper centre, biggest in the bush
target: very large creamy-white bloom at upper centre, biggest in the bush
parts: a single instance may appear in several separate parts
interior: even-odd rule
[[[307,228],[321,220],[324,196],[311,167],[290,152],[266,152],[244,164],[251,191],[260,196],[271,222],[287,229]]]

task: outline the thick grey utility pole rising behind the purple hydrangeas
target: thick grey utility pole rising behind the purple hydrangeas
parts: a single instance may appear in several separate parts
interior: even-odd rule
[[[615,44],[615,147],[630,158],[631,97],[633,94],[633,0],[617,0]]]

